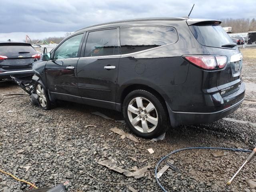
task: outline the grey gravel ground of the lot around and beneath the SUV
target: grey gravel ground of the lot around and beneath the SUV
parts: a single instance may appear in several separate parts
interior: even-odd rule
[[[256,59],[245,58],[243,78],[249,89],[246,98],[256,100]],[[0,83],[0,93],[23,93],[12,82]],[[69,191],[161,191],[154,178],[154,167],[162,156],[185,147],[228,147],[252,149],[256,145],[256,102],[245,100],[241,107],[227,118],[212,124],[179,126],[168,130],[164,140],[151,142],[138,138],[136,143],[110,131],[117,127],[130,133],[120,113],[58,102],[52,110],[42,110],[31,104],[28,96],[3,100],[0,104],[0,169],[38,187],[52,187],[70,181]],[[8,112],[13,111],[13,112]],[[101,112],[108,120],[92,112]],[[96,125],[88,127],[86,125]],[[147,149],[152,148],[153,154]],[[171,156],[174,165],[160,178],[168,191],[246,191],[246,179],[256,179],[256,157],[235,178],[231,186],[226,182],[244,162],[247,153],[226,152],[226,156],[212,156],[214,150],[190,150]],[[136,161],[129,157],[134,157]],[[110,160],[124,169],[138,169],[150,165],[139,179],[126,177],[97,162]],[[160,165],[162,168],[164,164]],[[27,170],[28,169],[28,170]],[[93,177],[94,178],[93,178]],[[98,180],[97,180],[97,179]],[[21,182],[0,173],[0,191],[7,186],[10,192],[20,189]]]

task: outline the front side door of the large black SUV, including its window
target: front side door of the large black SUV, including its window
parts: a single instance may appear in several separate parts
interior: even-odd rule
[[[80,101],[76,80],[76,67],[84,34],[72,36],[55,51],[53,60],[46,63],[48,88],[57,99]]]

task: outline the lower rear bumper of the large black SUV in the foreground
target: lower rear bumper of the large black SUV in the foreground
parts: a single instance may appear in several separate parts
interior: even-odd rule
[[[226,96],[224,102],[219,107],[223,107],[222,110],[213,112],[174,112],[171,110],[169,104],[166,102],[168,108],[171,126],[175,127],[178,125],[191,125],[191,124],[202,124],[211,123],[220,120],[229,114],[237,110],[240,104],[244,100],[245,86],[241,84],[240,89],[229,96]]]

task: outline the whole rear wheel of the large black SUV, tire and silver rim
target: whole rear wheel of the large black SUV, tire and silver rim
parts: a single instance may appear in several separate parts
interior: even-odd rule
[[[124,99],[122,112],[130,130],[142,138],[156,138],[168,128],[164,102],[146,90],[130,92]]]

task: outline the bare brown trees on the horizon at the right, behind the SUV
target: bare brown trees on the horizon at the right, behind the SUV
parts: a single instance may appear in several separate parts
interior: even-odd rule
[[[222,23],[220,24],[222,27],[232,27],[232,33],[243,33],[248,31],[256,31],[256,20],[252,19],[220,19]]]

